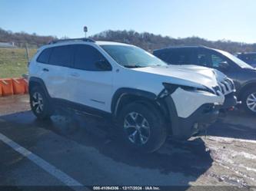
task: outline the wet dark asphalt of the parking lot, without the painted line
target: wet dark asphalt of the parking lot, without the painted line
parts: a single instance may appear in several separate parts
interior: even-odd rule
[[[232,112],[207,137],[169,139],[158,152],[142,154],[125,148],[106,119],[59,110],[52,120],[39,121],[28,96],[0,98],[0,133],[87,186],[248,189],[256,186],[255,124],[256,117]],[[1,140],[0,151],[1,186],[64,185]]]

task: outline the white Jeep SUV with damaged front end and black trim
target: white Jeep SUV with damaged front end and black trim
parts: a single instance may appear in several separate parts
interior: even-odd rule
[[[158,150],[168,135],[188,139],[232,107],[233,81],[214,69],[170,66],[129,44],[88,38],[52,41],[29,64],[32,111],[45,119],[61,105],[111,117],[135,149]]]

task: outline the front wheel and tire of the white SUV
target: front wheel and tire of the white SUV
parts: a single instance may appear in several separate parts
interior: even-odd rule
[[[121,140],[143,153],[158,150],[167,137],[165,120],[151,105],[133,103],[125,106],[118,117]]]

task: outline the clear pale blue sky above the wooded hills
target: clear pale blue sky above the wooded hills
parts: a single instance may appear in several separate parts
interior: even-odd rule
[[[58,38],[108,29],[256,43],[255,0],[0,0],[0,28]]]

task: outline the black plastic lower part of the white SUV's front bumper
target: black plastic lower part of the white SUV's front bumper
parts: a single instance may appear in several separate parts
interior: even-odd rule
[[[165,97],[170,111],[169,117],[171,119],[171,135],[174,138],[187,140],[195,133],[206,130],[211,123],[214,123],[219,114],[220,107],[214,104],[203,104],[194,111],[189,117],[178,117],[174,110],[175,104],[171,97]]]

